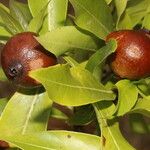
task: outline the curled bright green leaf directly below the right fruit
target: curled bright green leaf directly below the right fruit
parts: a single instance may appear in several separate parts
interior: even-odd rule
[[[118,104],[115,115],[121,116],[129,112],[138,99],[138,89],[129,80],[120,80],[116,83],[118,88]]]

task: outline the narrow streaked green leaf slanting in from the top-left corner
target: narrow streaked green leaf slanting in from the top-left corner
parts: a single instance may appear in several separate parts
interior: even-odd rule
[[[0,17],[11,33],[17,34],[23,32],[20,24],[8,13],[8,11],[6,11],[6,9],[4,9],[3,4],[0,4]]]

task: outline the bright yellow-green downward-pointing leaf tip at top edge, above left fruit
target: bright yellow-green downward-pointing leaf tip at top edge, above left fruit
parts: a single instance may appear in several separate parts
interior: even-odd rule
[[[51,0],[38,0],[38,3],[35,3],[35,0],[28,0],[28,6],[33,17],[37,16],[39,12],[48,4]]]

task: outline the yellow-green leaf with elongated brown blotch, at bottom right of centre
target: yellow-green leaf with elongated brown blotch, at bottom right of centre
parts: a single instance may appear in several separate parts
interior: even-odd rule
[[[135,150],[122,136],[117,118],[107,119],[115,106],[112,102],[99,102],[94,104],[98,122],[101,128],[101,149],[104,150]]]

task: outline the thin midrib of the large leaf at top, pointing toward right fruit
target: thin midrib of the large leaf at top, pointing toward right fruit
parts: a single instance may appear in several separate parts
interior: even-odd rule
[[[88,11],[86,9],[86,7],[84,7],[83,5],[81,5],[80,3],[78,3],[76,1],[77,5],[79,5],[81,8],[83,8],[90,16],[92,16],[94,18],[94,20],[107,32],[107,33],[110,33],[110,31],[105,27],[105,25],[103,25],[97,18],[96,16],[94,16],[94,14],[90,13],[90,11]]]

